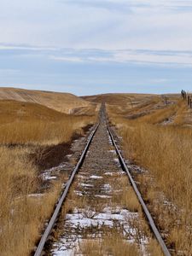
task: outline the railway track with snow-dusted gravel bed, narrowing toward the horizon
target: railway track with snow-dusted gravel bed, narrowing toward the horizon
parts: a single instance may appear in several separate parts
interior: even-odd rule
[[[114,156],[116,156],[116,159],[113,158]],[[118,157],[118,163],[117,163],[117,157]],[[105,215],[106,213],[103,213],[103,212],[102,214],[97,214],[98,216],[102,215],[103,219],[98,218],[98,216],[96,218],[95,217],[96,207],[98,207],[98,205],[101,205],[101,201],[102,201],[102,204],[105,205],[105,208],[106,208],[106,204],[108,205],[108,201],[113,201],[111,193],[113,193],[114,191],[120,191],[120,190],[119,189],[115,190],[115,188],[113,188],[112,185],[114,182],[112,182],[112,177],[114,174],[115,183],[118,183],[118,179],[122,180],[122,177],[121,177],[122,171],[124,172],[124,174],[126,174],[129,177],[131,187],[134,189],[137,195],[137,200],[139,201],[139,204],[143,209],[143,212],[148,221],[150,230],[152,230],[154,237],[159,242],[162,252],[166,256],[171,255],[171,253],[169,253],[169,250],[166,247],[165,241],[163,241],[162,237],[160,236],[159,230],[154,224],[154,220],[151,214],[148,212],[148,207],[144,203],[142,195],[138,191],[137,185],[134,182],[133,178],[131,177],[131,172],[129,172],[125,164],[125,160],[123,159],[122,154],[120,153],[119,148],[113,138],[113,134],[107,125],[104,105],[102,105],[102,108],[100,111],[100,123],[96,125],[95,129],[90,133],[90,137],[88,138],[88,142],[86,143],[84,151],[81,154],[79,162],[77,166],[74,168],[71,174],[71,177],[68,179],[67,184],[64,187],[61,198],[55,207],[55,212],[53,213],[52,218],[50,218],[49,220],[49,224],[46,230],[44,231],[44,234],[41,240],[38,243],[38,247],[34,255],[40,256],[43,254],[44,246],[46,244],[46,241],[48,241],[49,234],[51,233],[51,230],[54,228],[55,223],[58,221],[58,218],[60,218],[61,207],[64,205],[64,202],[67,199],[67,195],[70,193],[70,188],[74,186],[75,180],[76,180],[75,189],[77,190],[76,192],[78,192],[77,194],[81,197],[83,195],[84,200],[86,200],[90,208],[92,207],[91,211],[89,208],[89,212],[90,212],[89,214],[91,216],[89,216],[89,218],[88,216],[86,216],[87,217],[86,221],[89,220],[89,222],[91,222],[91,225],[95,224],[95,227],[97,227],[97,230],[96,229],[93,230],[91,226],[90,233],[97,232],[99,235],[96,237],[101,238],[102,236],[101,226],[103,226],[104,224],[108,224],[109,219],[106,217],[108,215]],[[106,187],[108,188],[106,189]],[[117,192],[117,193],[120,193],[120,192]],[[118,200],[119,199],[116,199],[116,203]],[[77,200],[76,202],[78,203],[78,201],[79,200]],[[109,213],[109,215],[110,214],[111,212]],[[111,214],[110,218],[112,218],[111,216],[113,216],[114,218],[114,216],[116,215]],[[76,212],[71,216],[75,218],[76,222],[78,220],[77,218],[79,218],[79,223],[83,218],[83,215],[79,212],[78,213]],[[125,226],[124,230],[129,229],[129,227],[127,227],[127,224],[125,224],[126,222],[125,219],[123,219],[122,216],[120,216],[120,218],[118,217],[117,219],[113,219],[113,220],[118,221],[118,219],[121,219],[121,225]],[[65,223],[65,219],[63,219],[63,223]],[[74,227],[74,223],[71,224],[70,227],[69,225],[70,225],[69,222],[67,222],[67,225],[65,226],[65,229],[63,231],[64,233],[70,233],[67,235],[67,238],[65,234],[62,238],[61,243],[64,243],[64,247],[65,247],[65,242],[68,242],[68,240],[70,240],[69,239],[70,237],[72,237],[72,241],[73,241],[74,237],[76,236],[76,233],[83,233],[83,230],[87,228],[87,226],[89,226],[87,223],[85,225],[83,224],[83,228],[81,228],[79,232],[79,230],[77,230],[77,228]],[[79,227],[79,224],[78,224],[78,227]],[[92,237],[94,234],[90,234],[90,235]],[[76,239],[77,240],[79,239],[79,241],[82,241],[82,235],[80,236],[77,235]],[[75,243],[73,245],[77,246],[77,244]],[[51,253],[49,252],[49,254]],[[56,254],[53,253],[53,255],[56,255]],[[64,255],[67,255],[67,254],[64,254]]]

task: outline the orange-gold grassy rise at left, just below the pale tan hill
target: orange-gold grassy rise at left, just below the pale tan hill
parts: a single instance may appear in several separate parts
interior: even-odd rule
[[[0,143],[58,144],[70,141],[73,132],[94,123],[93,116],[59,113],[28,102],[0,102]]]

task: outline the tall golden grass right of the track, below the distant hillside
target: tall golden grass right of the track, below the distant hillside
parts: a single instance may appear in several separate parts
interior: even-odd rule
[[[141,189],[152,204],[151,210],[158,217],[159,224],[168,231],[169,243],[175,247],[176,253],[190,255],[192,130],[184,127],[186,108],[185,102],[178,101],[177,104],[157,109],[137,119],[123,118],[123,114],[118,117],[111,106],[108,107],[108,113],[110,121],[123,137],[127,158],[148,169],[153,177],[152,183],[155,186],[148,189],[151,181],[148,182],[145,176]],[[160,125],[172,115],[175,115],[175,119],[170,125]],[[163,206],[162,198],[158,197],[160,193],[170,207]],[[153,207],[154,201],[159,201],[162,207]]]

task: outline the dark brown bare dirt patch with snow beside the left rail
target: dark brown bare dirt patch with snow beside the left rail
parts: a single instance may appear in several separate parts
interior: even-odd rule
[[[38,166],[37,193],[44,193],[44,190],[49,189],[51,183],[56,180],[61,179],[63,183],[67,182],[93,128],[93,125],[87,125],[84,127],[84,136],[74,134],[69,143],[39,148],[40,156],[37,150],[29,154],[29,158]]]

